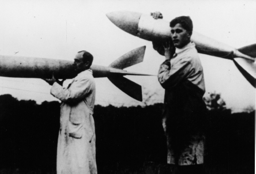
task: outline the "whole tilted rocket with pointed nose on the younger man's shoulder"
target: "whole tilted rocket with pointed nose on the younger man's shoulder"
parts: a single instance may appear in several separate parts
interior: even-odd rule
[[[108,19],[123,31],[149,41],[163,42],[171,37],[170,22],[155,20],[148,14],[118,11],[107,13]],[[236,49],[193,31],[191,41],[201,54],[233,60],[240,73],[255,88],[256,44]]]

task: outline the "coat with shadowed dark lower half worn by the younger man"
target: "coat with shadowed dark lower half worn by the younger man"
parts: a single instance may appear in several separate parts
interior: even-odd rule
[[[163,127],[167,136],[167,163],[204,163],[206,105],[204,73],[194,43],[176,48],[165,60],[158,79],[165,89]]]

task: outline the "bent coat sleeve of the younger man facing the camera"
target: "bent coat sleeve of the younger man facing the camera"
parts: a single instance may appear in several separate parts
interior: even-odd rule
[[[191,73],[191,63],[185,59],[171,66],[170,60],[165,60],[159,69],[158,80],[164,89],[170,89],[184,80]]]

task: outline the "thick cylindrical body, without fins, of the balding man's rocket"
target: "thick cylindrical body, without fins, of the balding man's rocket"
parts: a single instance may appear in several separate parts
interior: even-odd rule
[[[20,78],[51,78],[52,73],[56,78],[73,78],[77,73],[74,71],[73,62],[68,60],[31,58],[0,55],[0,76]],[[111,68],[92,65],[95,77],[107,77]]]

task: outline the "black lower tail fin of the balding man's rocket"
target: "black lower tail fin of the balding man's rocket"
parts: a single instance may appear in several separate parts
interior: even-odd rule
[[[128,96],[132,97],[135,100],[142,101],[141,85],[138,85],[135,82],[130,81],[127,78],[120,75],[111,76],[108,77],[108,79]]]

